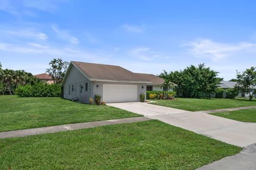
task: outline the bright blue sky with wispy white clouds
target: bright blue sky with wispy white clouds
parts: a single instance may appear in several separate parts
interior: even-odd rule
[[[255,1],[0,0],[0,62],[43,73],[52,58],[159,74],[205,63],[235,78],[256,63]]]

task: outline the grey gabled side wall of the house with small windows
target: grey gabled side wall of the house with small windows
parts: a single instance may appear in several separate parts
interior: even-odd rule
[[[87,91],[85,90],[85,83],[88,84]],[[75,66],[71,67],[71,70],[68,73],[68,77],[62,86],[64,88],[63,97],[65,99],[71,100],[78,98],[79,101],[82,101],[82,103],[89,103],[89,98],[92,97],[92,82],[89,81],[81,72],[79,72]]]

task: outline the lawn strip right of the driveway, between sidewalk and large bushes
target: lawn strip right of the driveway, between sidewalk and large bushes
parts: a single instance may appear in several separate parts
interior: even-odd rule
[[[183,109],[186,111],[207,111],[221,108],[233,108],[243,106],[256,106],[256,100],[245,99],[194,99],[194,98],[177,98],[177,100],[151,100],[157,101],[151,103],[166,107]]]

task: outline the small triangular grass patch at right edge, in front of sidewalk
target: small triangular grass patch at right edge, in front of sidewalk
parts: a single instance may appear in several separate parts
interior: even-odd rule
[[[256,123],[256,109],[244,109],[240,111],[230,111],[221,113],[211,113],[215,116],[230,118],[242,122],[255,122]]]

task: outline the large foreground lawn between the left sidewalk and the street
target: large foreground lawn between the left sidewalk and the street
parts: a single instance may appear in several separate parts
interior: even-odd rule
[[[237,154],[157,120],[0,140],[0,169],[195,169]]]

